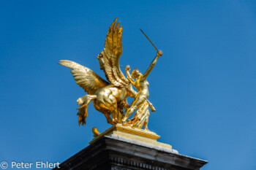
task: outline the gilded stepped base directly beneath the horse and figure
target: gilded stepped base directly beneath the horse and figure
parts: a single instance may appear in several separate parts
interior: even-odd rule
[[[169,149],[172,149],[172,146],[170,144],[157,142],[157,139],[159,139],[160,136],[155,134],[152,131],[145,131],[143,129],[131,128],[129,126],[121,125],[119,123],[116,125],[113,125],[111,128],[108,128],[106,131],[102,132],[102,134],[99,134],[99,136],[95,137],[91,142],[89,142],[89,144],[93,144],[102,136],[110,136],[110,135],[122,136],[129,139],[134,139],[140,142],[154,144],[159,147],[167,147]]]

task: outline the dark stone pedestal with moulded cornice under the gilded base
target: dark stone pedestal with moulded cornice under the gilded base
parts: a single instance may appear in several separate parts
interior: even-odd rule
[[[200,169],[206,163],[207,161],[180,155],[171,147],[110,134],[99,136],[89,147],[61,163],[60,169],[193,170]]]

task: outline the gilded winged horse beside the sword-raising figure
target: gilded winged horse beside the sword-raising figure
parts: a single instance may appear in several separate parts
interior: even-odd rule
[[[59,61],[59,64],[72,69],[71,73],[77,84],[88,93],[88,95],[78,98],[78,104],[80,104],[78,108],[79,125],[80,123],[86,124],[87,108],[90,101],[93,101],[95,109],[105,115],[108,123],[120,123],[123,110],[129,106],[126,100],[127,96],[135,96],[137,93],[133,90],[129,80],[124,77],[119,66],[119,58],[122,53],[122,26],[119,27],[120,22],[116,24],[116,20],[108,29],[103,51],[97,56],[100,69],[105,72],[108,81],[103,80],[97,73],[79,63],[67,60]]]

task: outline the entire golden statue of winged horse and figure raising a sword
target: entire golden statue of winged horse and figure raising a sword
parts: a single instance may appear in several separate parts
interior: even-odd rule
[[[142,128],[144,125],[144,129],[148,130],[148,107],[151,107],[152,112],[156,110],[147,99],[149,96],[149,84],[146,78],[157,63],[159,56],[162,55],[162,51],[157,50],[156,58],[154,58],[144,74],[141,74],[138,69],[133,70],[132,74],[130,74],[130,67],[127,66],[125,69],[127,77],[125,77],[119,66],[119,58],[122,53],[122,27],[119,27],[120,22],[116,24],[116,20],[108,30],[103,51],[97,56],[100,69],[105,72],[108,81],[103,80],[91,69],[74,61],[61,60],[59,64],[72,69],[71,73],[77,84],[88,93],[88,95],[82,96],[77,100],[78,104],[80,104],[78,108],[79,125],[80,123],[82,125],[86,124],[87,108],[90,101],[93,101],[94,108],[105,115],[108,123],[113,125],[121,123],[132,128]],[[146,34],[144,35],[146,36]],[[150,39],[148,40],[150,41]],[[151,44],[153,45],[152,42]],[[132,85],[138,92],[133,89]],[[127,102],[128,96],[134,98],[131,106]],[[138,109],[137,112],[135,112],[136,109]],[[132,112],[135,112],[134,117],[127,120],[132,115]],[[97,128],[94,128],[93,131],[95,136],[100,134]]]

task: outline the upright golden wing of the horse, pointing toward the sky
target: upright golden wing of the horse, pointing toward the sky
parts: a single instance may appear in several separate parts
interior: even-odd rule
[[[114,20],[108,29],[103,53],[100,53],[97,58],[108,81],[115,86],[124,87],[129,85],[129,81],[121,72],[119,66],[119,58],[122,53],[121,34],[123,28],[119,28],[120,22],[116,24],[116,20]]]

